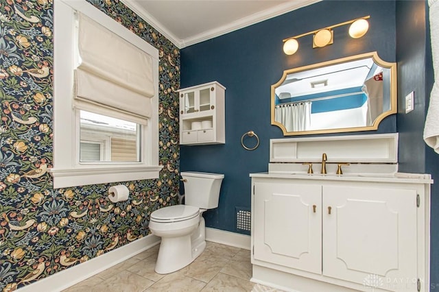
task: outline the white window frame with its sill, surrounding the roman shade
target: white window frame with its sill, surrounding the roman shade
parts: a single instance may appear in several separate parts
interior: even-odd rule
[[[79,161],[79,114],[73,109],[75,11],[104,25],[153,59],[152,116],[141,133],[141,162]],[[54,5],[54,188],[158,178],[158,50],[85,0],[59,0]]]

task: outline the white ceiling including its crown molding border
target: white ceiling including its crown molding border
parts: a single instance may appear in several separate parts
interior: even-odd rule
[[[321,0],[121,0],[182,49]]]

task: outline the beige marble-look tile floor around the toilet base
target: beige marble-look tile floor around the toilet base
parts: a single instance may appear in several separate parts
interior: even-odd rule
[[[206,250],[191,265],[174,273],[160,275],[154,272],[158,246],[63,292],[279,291],[250,282],[252,265],[249,250],[208,241]]]

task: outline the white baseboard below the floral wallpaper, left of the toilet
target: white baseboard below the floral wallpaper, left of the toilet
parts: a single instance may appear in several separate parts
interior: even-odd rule
[[[91,260],[87,260],[80,265],[75,265],[69,269],[64,269],[58,273],[54,273],[47,278],[38,280],[32,284],[29,284],[21,289],[19,292],[34,292],[34,291],[46,291],[46,292],[56,292],[62,291],[71,287],[73,284],[81,282],[86,278],[104,271],[118,263],[123,262],[144,250],[147,250],[154,245],[160,243],[160,237],[155,235],[147,235],[137,241],[123,245],[116,250],[102,254],[102,256],[97,256]]]

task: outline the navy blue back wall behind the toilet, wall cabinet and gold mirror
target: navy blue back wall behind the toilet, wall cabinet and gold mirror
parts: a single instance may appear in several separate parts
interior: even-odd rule
[[[284,38],[366,15],[370,29],[363,38],[349,38],[346,25],[334,30],[333,45],[312,49],[309,36],[300,38],[293,56],[283,53]],[[248,174],[267,171],[270,138],[283,137],[281,129],[270,124],[270,86],[283,71],[370,51],[396,62],[395,37],[394,1],[322,1],[182,49],[181,88],[213,80],[227,88],[226,144],[180,147],[180,171],[225,174],[219,207],[204,213],[206,226],[239,232],[235,208],[250,209]],[[254,151],[241,147],[241,136],[249,130],[261,140]],[[396,117],[367,133],[377,132],[396,132]]]

